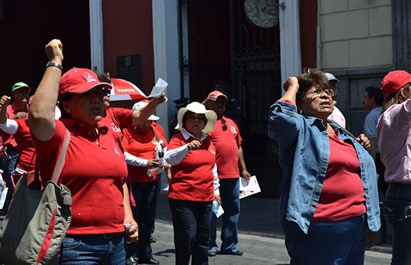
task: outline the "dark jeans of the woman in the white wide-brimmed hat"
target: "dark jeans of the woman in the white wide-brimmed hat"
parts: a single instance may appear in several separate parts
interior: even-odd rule
[[[169,199],[173,218],[175,264],[208,264],[212,201]]]

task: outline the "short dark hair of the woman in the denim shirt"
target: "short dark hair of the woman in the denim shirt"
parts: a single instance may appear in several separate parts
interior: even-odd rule
[[[299,85],[296,96],[297,106],[301,104],[304,96],[306,96],[306,93],[313,85],[324,90],[329,88],[329,83],[327,81],[327,78],[324,76],[324,73],[316,68],[309,68],[308,70],[304,70],[304,72],[300,76],[298,76],[297,79]]]

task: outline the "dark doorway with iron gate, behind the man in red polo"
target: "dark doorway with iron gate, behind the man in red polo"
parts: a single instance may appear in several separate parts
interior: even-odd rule
[[[238,125],[247,168],[258,177],[261,195],[277,197],[281,173],[275,144],[266,131],[269,108],[281,96],[279,25],[258,26],[249,10],[246,14],[245,1],[181,1],[188,38],[182,72],[189,77],[191,101],[205,99],[214,81],[232,84],[232,96],[242,106]],[[247,4],[253,2],[260,1]],[[260,12],[264,7],[251,8]]]

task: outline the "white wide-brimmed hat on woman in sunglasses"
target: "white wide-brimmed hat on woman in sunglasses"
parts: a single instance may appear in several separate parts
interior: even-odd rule
[[[191,102],[190,104],[187,105],[187,107],[181,108],[178,110],[178,113],[177,113],[178,123],[177,123],[177,126],[175,126],[176,130],[180,130],[180,131],[183,130],[183,117],[187,111],[206,115],[207,124],[202,130],[203,133],[210,133],[214,130],[214,124],[216,124],[216,120],[217,120],[216,113],[214,111],[208,111],[206,109],[206,106],[204,106],[203,104],[199,102]]]

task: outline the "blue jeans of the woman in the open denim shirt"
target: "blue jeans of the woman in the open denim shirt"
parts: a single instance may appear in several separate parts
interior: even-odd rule
[[[310,223],[305,234],[295,222],[282,219],[291,265],[362,265],[369,228],[365,216]]]

